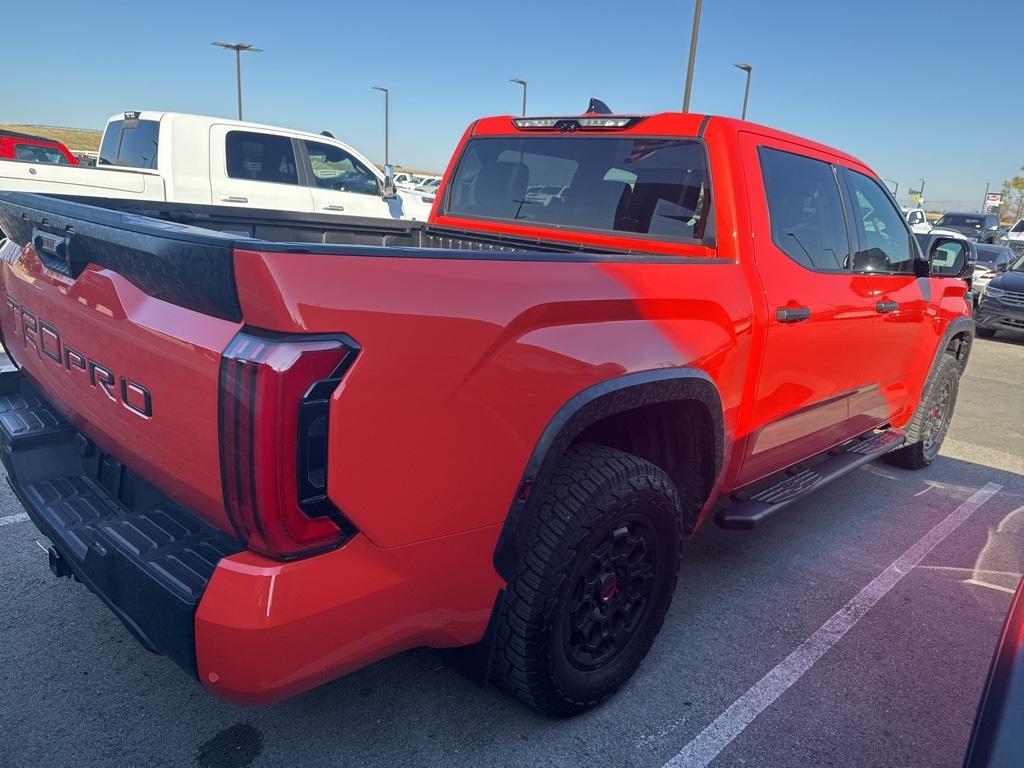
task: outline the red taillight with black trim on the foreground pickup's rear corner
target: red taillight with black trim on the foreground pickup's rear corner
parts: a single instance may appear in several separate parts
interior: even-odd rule
[[[331,395],[358,349],[347,337],[238,334],[220,362],[224,507],[249,549],[279,559],[343,544],[328,497]]]

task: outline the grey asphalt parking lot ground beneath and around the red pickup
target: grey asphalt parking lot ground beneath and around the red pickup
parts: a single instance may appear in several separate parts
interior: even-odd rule
[[[1024,570],[1024,335],[979,339],[943,456],[872,464],[754,532],[705,528],[634,680],[569,721],[432,651],[218,701],[84,587],[0,487],[0,766],[957,766]]]

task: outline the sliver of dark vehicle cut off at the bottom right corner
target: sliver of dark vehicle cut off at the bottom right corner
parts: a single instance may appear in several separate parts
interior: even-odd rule
[[[1024,580],[1010,605],[978,706],[964,768],[1024,765]]]

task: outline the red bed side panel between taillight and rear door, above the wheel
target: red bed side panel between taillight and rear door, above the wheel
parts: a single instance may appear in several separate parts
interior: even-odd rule
[[[332,404],[329,487],[378,546],[503,521],[549,420],[599,381],[699,368],[734,428],[752,308],[729,260],[237,251],[236,272],[247,323],[361,346]]]

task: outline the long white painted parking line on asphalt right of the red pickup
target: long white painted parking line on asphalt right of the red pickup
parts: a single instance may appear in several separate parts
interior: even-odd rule
[[[706,768],[762,712],[787,691],[829,648],[864,617],[876,603],[899,584],[900,580],[924,560],[947,536],[958,528],[982,504],[999,490],[1001,485],[986,483],[970,499],[949,513],[934,528],[919,539],[906,552],[882,571],[850,602],[836,611],[831,618],[805,640],[799,648],[750,690],[737,698],[715,721],[697,734],[665,768]]]

